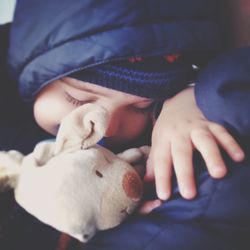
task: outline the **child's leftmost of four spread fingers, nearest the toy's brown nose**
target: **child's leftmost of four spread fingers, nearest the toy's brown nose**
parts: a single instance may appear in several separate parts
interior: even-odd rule
[[[159,199],[167,200],[171,195],[172,157],[169,144],[153,155],[156,193]]]

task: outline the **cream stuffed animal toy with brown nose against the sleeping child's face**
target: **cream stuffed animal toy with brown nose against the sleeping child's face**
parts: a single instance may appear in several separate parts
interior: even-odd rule
[[[119,225],[141,201],[149,148],[115,155],[97,145],[108,123],[104,108],[86,104],[29,155],[0,152],[0,190],[14,189],[28,213],[81,242]]]

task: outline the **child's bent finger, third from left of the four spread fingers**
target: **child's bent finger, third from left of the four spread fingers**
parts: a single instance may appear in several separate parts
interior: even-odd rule
[[[227,168],[222,159],[219,147],[210,131],[197,129],[191,133],[191,139],[205,160],[210,175],[214,178],[224,177]]]

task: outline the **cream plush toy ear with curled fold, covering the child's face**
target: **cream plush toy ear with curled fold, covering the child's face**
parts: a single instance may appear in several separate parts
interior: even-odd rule
[[[109,123],[106,109],[85,104],[69,113],[58,130],[55,154],[85,149],[96,144],[105,134]]]

